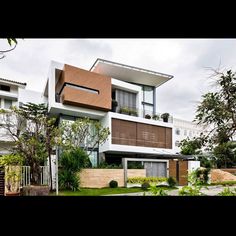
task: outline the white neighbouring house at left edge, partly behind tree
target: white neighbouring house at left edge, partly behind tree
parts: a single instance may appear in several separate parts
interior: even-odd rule
[[[25,89],[26,83],[0,78],[0,109],[9,109],[11,106],[19,107],[21,103],[45,102],[42,93]],[[0,115],[0,122],[3,122]],[[12,139],[4,128],[0,128],[0,155],[9,153]]]

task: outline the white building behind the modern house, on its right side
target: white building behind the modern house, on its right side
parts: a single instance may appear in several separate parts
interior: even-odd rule
[[[180,152],[180,142],[183,139],[189,138],[193,139],[194,137],[199,137],[201,133],[206,132],[206,127],[203,125],[198,125],[194,122],[182,120],[182,119],[173,119],[174,127],[174,151],[176,153]]]

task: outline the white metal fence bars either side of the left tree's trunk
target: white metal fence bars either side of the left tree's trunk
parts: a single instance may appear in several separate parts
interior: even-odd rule
[[[49,166],[40,166],[40,185],[49,185],[50,184],[50,175],[49,175]],[[30,185],[30,166],[22,166],[21,169],[21,186]]]

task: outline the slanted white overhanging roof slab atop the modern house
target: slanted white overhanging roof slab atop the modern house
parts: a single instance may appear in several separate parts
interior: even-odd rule
[[[144,84],[154,87],[159,87],[173,78],[172,75],[128,66],[100,58],[96,60],[90,71],[94,71],[95,68],[99,69],[99,74],[107,75],[129,83]]]

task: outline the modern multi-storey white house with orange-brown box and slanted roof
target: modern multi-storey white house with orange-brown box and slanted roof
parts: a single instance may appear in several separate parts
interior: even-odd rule
[[[109,127],[107,142],[90,156],[93,166],[104,160],[120,164],[123,158],[137,159],[147,175],[168,176],[176,168],[173,159],[182,157],[175,154],[172,117],[164,122],[157,111],[156,91],[172,78],[103,59],[89,71],[52,62],[44,96],[49,113],[59,122],[86,116]]]

